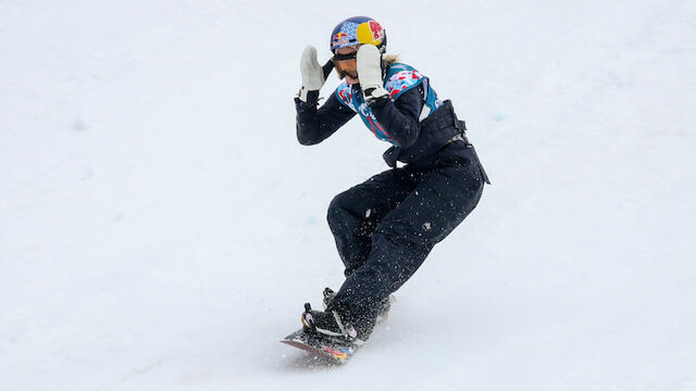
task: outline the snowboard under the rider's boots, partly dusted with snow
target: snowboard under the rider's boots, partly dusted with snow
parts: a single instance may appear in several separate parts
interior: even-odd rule
[[[334,363],[345,364],[352,357],[359,345],[349,343],[340,338],[322,336],[301,328],[285,337],[281,342],[306,350],[319,356],[324,356]]]

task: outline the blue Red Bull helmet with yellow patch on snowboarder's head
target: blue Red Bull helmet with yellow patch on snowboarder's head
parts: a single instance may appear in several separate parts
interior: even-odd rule
[[[377,21],[368,16],[353,16],[340,22],[331,34],[331,51],[353,45],[371,43],[384,53],[387,49],[387,35]]]

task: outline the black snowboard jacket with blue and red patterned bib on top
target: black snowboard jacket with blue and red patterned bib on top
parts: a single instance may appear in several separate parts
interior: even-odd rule
[[[385,162],[417,163],[461,136],[465,125],[459,121],[449,100],[440,101],[427,77],[413,67],[394,63],[386,70],[384,88],[388,99],[368,105],[357,85],[340,84],[321,106],[296,99],[297,138],[300,143],[315,144],[358,114],[380,140],[391,143],[384,153]]]

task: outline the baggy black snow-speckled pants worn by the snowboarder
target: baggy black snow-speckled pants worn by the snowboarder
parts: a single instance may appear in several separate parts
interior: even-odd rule
[[[328,225],[346,266],[332,307],[373,313],[476,206],[481,165],[463,141],[336,195]]]

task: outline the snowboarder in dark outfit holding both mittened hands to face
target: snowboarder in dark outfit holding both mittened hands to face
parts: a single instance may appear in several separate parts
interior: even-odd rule
[[[373,18],[340,22],[332,59],[302,52],[302,86],[295,99],[297,138],[311,146],[356,114],[377,139],[391,143],[391,169],[336,195],[327,220],[345,265],[337,292],[324,291],[324,311],[302,313],[306,330],[362,344],[388,311],[389,294],[421,266],[433,247],[476,206],[488,178],[449,100],[427,77],[386,54],[387,37]],[[318,109],[319,91],[335,70],[345,79]],[[405,165],[397,165],[397,161]]]

